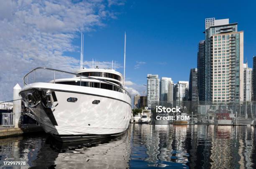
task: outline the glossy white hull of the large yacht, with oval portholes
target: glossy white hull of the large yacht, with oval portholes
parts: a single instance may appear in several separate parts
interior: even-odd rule
[[[50,95],[50,99],[46,98],[46,93]],[[129,126],[131,98],[120,92],[34,83],[20,91],[26,104],[31,101],[28,94],[36,97],[36,106],[29,106],[29,109],[38,123],[46,133],[63,142],[116,136],[123,134]],[[75,98],[77,101],[68,102],[68,98]],[[50,105],[47,105],[47,100],[51,100]]]

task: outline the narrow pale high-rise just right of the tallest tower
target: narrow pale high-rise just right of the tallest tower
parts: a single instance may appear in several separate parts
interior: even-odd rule
[[[251,101],[252,99],[252,68],[248,64],[243,64],[243,100]]]

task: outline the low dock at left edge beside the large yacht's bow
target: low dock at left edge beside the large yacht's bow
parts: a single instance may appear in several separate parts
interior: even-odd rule
[[[33,132],[44,132],[44,129],[36,124],[22,124],[20,128],[0,126],[0,137],[9,137]]]

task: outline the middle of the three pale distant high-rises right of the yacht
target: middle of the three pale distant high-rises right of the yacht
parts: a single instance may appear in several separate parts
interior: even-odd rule
[[[162,77],[160,81],[160,104],[165,107],[173,105],[173,81],[172,78]]]

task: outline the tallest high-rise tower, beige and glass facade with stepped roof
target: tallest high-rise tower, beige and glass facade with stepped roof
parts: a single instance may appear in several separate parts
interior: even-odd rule
[[[243,31],[238,32],[237,26],[228,19],[205,19],[207,101],[243,101]]]

